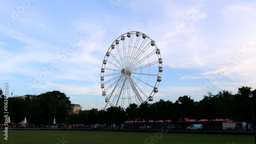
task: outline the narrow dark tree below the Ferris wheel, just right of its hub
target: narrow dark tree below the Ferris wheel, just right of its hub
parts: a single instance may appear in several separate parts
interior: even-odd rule
[[[136,104],[130,104],[126,108],[126,113],[127,113],[127,119],[128,121],[133,121],[133,127],[135,129],[135,121],[138,119],[138,105]]]

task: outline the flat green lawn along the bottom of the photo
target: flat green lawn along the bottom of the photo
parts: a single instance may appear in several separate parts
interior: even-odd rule
[[[13,130],[1,143],[254,143],[252,135],[178,134],[154,132]]]

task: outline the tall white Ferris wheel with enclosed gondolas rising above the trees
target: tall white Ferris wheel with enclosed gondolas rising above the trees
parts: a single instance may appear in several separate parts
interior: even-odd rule
[[[132,31],[119,36],[101,65],[104,109],[153,101],[162,80],[162,62],[155,41],[144,33]]]

